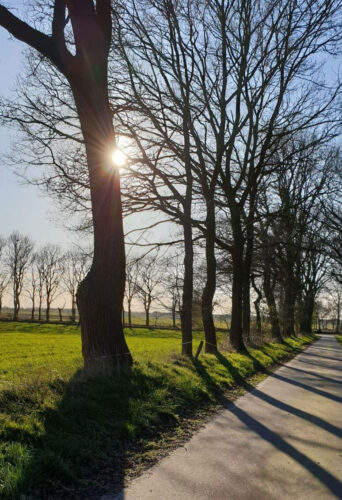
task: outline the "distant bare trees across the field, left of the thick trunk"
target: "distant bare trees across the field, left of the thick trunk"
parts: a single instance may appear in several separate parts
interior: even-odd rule
[[[58,245],[35,249],[28,236],[14,232],[0,237],[0,316],[3,297],[11,289],[13,320],[19,318],[21,299],[31,302],[31,319],[50,320],[51,305],[65,294],[70,296],[71,320],[76,320],[76,292],[90,265],[90,256],[81,250],[63,252]]]

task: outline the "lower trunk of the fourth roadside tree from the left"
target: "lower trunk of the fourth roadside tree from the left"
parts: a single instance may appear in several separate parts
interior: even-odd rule
[[[237,351],[245,350],[242,331],[242,300],[243,300],[243,249],[244,239],[239,213],[231,211],[233,231],[233,283],[232,283],[232,316],[230,326],[230,343]]]

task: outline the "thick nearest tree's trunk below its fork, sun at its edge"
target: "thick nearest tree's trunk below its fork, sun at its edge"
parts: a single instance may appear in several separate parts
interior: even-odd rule
[[[122,326],[125,249],[118,170],[111,165],[114,129],[104,83],[72,86],[86,146],[94,227],[91,269],[77,291],[82,354],[88,371],[131,364]],[[87,81],[88,80],[88,81]]]

